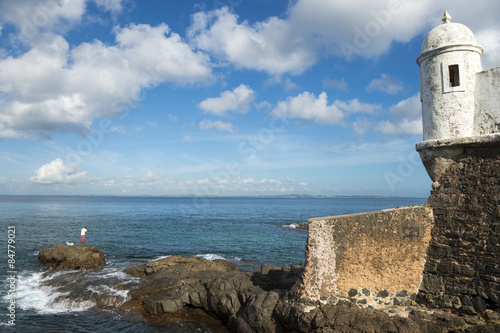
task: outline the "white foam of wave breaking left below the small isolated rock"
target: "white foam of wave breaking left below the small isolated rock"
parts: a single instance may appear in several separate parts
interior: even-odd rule
[[[41,314],[84,311],[94,306],[91,301],[73,301],[65,299],[65,293],[57,288],[46,286],[44,281],[64,274],[57,272],[43,277],[42,272],[25,273],[18,276],[17,304],[22,310],[35,310]]]

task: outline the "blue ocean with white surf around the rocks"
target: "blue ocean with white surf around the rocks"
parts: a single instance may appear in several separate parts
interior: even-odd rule
[[[226,259],[243,270],[299,264],[304,261],[307,231],[297,226],[309,218],[425,202],[0,196],[0,331],[221,332],[224,327],[217,321],[190,312],[160,322],[118,310],[116,305],[128,297],[126,289],[138,283],[123,269],[170,255]],[[84,226],[89,229],[87,244],[105,254],[104,267],[51,272],[39,262],[44,247],[79,244]]]

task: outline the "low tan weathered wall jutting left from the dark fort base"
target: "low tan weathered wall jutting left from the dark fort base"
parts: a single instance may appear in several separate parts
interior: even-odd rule
[[[411,304],[430,241],[427,206],[310,219],[304,283],[312,299]]]

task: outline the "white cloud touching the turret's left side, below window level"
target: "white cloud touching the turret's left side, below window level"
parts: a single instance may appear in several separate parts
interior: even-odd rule
[[[422,135],[420,94],[402,100],[390,109],[390,118],[382,120],[375,130],[386,135]]]

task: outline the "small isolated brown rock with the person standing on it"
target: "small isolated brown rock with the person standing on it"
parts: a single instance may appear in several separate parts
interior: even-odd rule
[[[38,259],[54,269],[91,269],[106,263],[102,251],[90,245],[55,244],[42,249]]]

